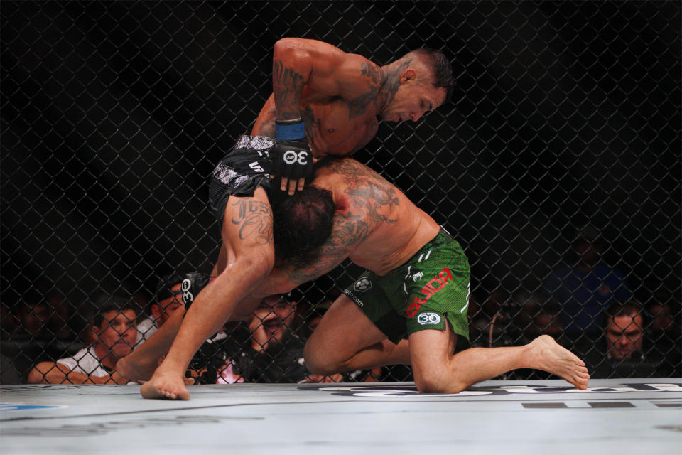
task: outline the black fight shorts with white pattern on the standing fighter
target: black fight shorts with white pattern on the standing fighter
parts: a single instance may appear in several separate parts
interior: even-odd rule
[[[211,176],[211,210],[222,225],[229,195],[254,196],[259,186],[270,191],[270,149],[274,139],[264,136],[241,136],[237,144],[220,160]]]

